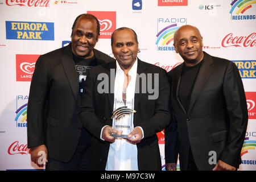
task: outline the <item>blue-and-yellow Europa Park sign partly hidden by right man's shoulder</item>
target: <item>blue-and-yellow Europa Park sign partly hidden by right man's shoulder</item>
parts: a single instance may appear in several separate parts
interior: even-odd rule
[[[256,60],[236,60],[241,78],[256,78]]]

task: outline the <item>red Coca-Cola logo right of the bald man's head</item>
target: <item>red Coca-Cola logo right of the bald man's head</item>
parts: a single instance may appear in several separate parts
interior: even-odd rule
[[[222,47],[256,47],[256,32],[248,36],[234,36],[233,33],[229,33],[224,37],[221,42]]]

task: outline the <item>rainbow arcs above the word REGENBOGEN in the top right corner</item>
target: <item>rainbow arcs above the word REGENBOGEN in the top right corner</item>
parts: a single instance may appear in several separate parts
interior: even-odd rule
[[[231,10],[229,11],[230,14],[234,11],[236,7],[238,7],[237,14],[243,14],[245,11],[249,8],[251,8],[252,4],[256,3],[256,1],[253,0],[234,0],[230,4],[232,6]]]

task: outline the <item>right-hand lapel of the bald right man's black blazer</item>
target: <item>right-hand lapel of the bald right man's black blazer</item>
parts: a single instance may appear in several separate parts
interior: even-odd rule
[[[204,60],[201,64],[199,73],[196,77],[195,85],[193,86],[193,90],[191,93],[191,100],[189,103],[188,113],[191,113],[192,107],[195,104],[197,97],[199,96],[199,93],[203,89],[210,74],[213,72],[214,68],[211,65],[212,63],[213,63],[212,57],[210,57],[210,55],[204,52]]]

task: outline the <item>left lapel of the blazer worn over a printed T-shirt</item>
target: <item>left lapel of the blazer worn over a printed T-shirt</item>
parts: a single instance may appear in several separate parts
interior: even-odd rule
[[[77,98],[79,98],[79,82],[75,69],[75,63],[73,60],[71,44],[65,47],[63,53],[64,54],[60,57],[60,61],[63,65],[65,76],[68,79],[69,86],[71,87],[71,90],[73,92],[73,96],[75,97],[75,100],[77,100]]]

